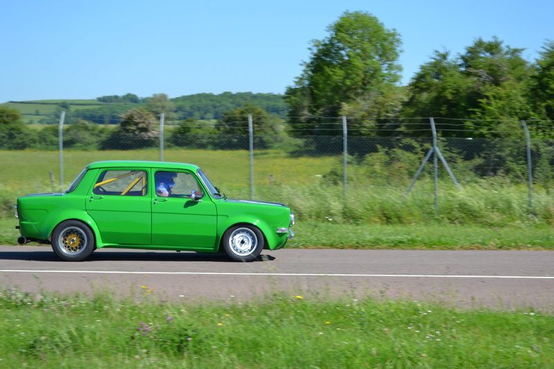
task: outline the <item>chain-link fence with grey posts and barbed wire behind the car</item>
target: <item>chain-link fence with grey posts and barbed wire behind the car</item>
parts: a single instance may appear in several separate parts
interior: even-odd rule
[[[345,199],[350,187],[370,181],[397,183],[407,196],[425,177],[434,181],[438,204],[439,179],[462,190],[472,181],[505,177],[524,186],[531,209],[533,186],[554,183],[550,121],[316,117],[292,125],[287,119],[237,116],[222,125],[221,120],[166,121],[162,114],[156,124],[123,127],[113,124],[114,117],[73,116],[67,124],[62,113],[58,125],[1,128],[0,178],[3,183],[14,177],[48,179],[64,190],[92,161],[179,161],[208,172],[223,168],[217,170],[227,177],[214,172],[216,179],[251,198],[259,186],[321,179],[341,186]]]

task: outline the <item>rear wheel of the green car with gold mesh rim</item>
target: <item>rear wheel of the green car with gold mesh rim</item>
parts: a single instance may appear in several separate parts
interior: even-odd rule
[[[89,258],[95,244],[90,228],[77,220],[66,220],[52,232],[52,249],[60,258],[70,262]]]

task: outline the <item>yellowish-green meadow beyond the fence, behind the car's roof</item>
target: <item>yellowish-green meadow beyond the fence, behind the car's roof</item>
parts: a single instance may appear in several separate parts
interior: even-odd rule
[[[56,186],[60,181],[60,155],[45,151],[3,151],[1,159],[1,183],[30,183],[50,181],[50,172]],[[133,151],[69,151],[64,153],[64,189],[92,161],[102,160],[150,160],[158,161],[158,150]],[[226,192],[248,192],[249,153],[244,150],[166,150],[164,161],[193,163],[203,168],[208,177]],[[267,150],[255,158],[255,181],[259,186],[269,186],[270,176],[274,183],[287,182],[304,186],[316,181],[316,175],[325,174],[336,159],[334,156],[314,158],[291,158],[278,150]]]

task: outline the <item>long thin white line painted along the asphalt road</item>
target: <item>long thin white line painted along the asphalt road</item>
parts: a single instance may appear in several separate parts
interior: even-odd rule
[[[0,270],[0,273],[94,273],[94,274],[166,274],[194,276],[288,276],[288,277],[384,277],[384,278],[494,278],[494,279],[554,279],[554,276],[434,276],[429,274],[335,274],[335,273],[231,273],[197,271],[56,271],[56,270]]]

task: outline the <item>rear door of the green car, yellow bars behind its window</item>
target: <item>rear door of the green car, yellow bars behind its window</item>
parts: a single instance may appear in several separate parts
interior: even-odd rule
[[[98,224],[102,242],[149,245],[151,199],[146,170],[106,169],[98,172],[85,208]]]

